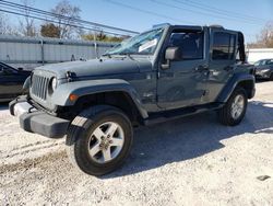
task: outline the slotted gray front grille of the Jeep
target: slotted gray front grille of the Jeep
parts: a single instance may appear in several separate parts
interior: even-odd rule
[[[41,77],[33,73],[32,94],[41,100],[46,100],[49,81],[50,79],[47,77]]]

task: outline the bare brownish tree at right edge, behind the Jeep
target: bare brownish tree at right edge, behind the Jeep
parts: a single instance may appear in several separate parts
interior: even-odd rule
[[[260,35],[257,36],[257,42],[248,44],[249,48],[273,48],[273,21],[268,22],[262,28]]]

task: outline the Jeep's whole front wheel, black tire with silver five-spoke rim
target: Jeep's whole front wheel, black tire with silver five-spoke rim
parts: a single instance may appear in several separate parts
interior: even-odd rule
[[[67,135],[67,151],[75,167],[99,176],[124,162],[132,141],[133,129],[127,115],[117,107],[98,105],[73,119]]]

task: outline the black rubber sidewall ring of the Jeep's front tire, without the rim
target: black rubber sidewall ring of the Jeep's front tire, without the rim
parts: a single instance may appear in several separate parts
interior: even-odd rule
[[[94,161],[90,156],[88,140],[93,131],[99,125],[106,122],[115,122],[121,126],[124,133],[124,144],[120,153],[114,160],[110,160],[106,163],[98,163]],[[88,116],[88,118],[86,118],[83,128],[84,129],[82,131],[76,134],[78,137],[74,142],[74,150],[76,151],[75,161],[81,161],[81,164],[79,167],[83,171],[85,171],[86,173],[90,173],[88,171],[92,171],[92,174],[100,175],[102,171],[104,171],[103,173],[108,173],[123,163],[132,146],[133,133],[130,121],[122,112],[118,110],[108,110],[103,111],[94,116],[91,115]]]

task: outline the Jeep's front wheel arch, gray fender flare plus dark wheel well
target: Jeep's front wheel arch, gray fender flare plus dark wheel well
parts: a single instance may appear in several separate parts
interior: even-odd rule
[[[75,101],[70,100],[71,94],[76,96]],[[93,105],[108,104],[122,110],[131,121],[147,117],[147,112],[136,91],[124,80],[104,79],[70,82],[61,84],[54,95],[56,105],[73,110],[75,113]]]

